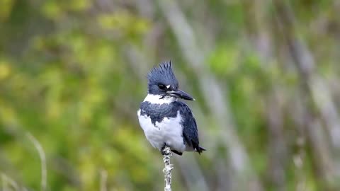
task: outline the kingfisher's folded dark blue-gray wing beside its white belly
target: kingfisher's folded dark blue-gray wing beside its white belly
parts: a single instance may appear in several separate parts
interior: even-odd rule
[[[200,141],[198,139],[196,120],[188,105],[182,102],[179,103],[181,103],[180,112],[182,115],[183,139],[188,146],[192,146],[193,149],[200,154],[202,151],[205,151],[205,149],[199,146]]]

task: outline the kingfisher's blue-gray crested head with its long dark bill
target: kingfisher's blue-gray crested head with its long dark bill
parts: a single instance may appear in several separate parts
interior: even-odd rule
[[[147,74],[147,79],[149,94],[161,96],[161,98],[172,97],[194,100],[188,93],[179,89],[179,81],[172,71],[171,61],[163,62],[158,67],[154,67]]]

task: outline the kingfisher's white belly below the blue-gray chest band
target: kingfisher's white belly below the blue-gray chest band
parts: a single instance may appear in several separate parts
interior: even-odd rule
[[[176,117],[166,117],[162,122],[152,124],[151,119],[147,115],[140,115],[140,110],[137,112],[140,127],[144,130],[147,140],[159,150],[162,149],[164,143],[179,152],[186,149],[183,143],[183,127],[181,126],[181,115],[177,112]]]

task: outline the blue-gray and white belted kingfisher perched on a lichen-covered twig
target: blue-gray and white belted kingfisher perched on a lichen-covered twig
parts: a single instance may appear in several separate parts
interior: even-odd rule
[[[169,146],[175,154],[183,151],[205,151],[199,146],[198,130],[193,113],[183,100],[195,100],[179,89],[171,62],[163,62],[147,75],[147,97],[140,104],[138,120],[145,137],[162,152]]]

